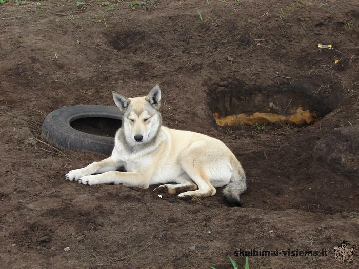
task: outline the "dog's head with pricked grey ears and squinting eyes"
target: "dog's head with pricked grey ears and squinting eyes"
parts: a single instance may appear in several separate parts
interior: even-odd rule
[[[161,89],[157,84],[147,96],[127,98],[112,92],[116,106],[123,114],[122,128],[127,142],[132,146],[151,142],[161,127]]]

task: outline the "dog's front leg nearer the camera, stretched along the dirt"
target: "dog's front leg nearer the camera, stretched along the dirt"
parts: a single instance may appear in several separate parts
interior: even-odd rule
[[[84,185],[96,184],[124,184],[126,186],[136,186],[141,188],[148,188],[151,182],[150,173],[146,175],[139,172],[118,172],[110,171],[103,174],[84,176],[78,180],[78,183]]]

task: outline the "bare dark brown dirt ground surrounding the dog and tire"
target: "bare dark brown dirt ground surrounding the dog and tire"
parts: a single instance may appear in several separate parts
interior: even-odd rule
[[[234,251],[326,249],[326,257],[249,264],[358,268],[358,2],[130,3],[0,5],[1,267],[220,269],[231,268],[229,255],[244,268]],[[106,156],[62,156],[39,141],[55,109],[113,105],[112,90],[135,97],[156,83],[167,126],[221,139],[241,161],[242,208],[226,205],[221,191],[183,201],[152,188],[66,181],[69,170]],[[300,89],[325,115],[308,126],[217,126],[218,89],[234,89],[234,100],[238,87],[267,96]],[[353,262],[335,260],[342,241]]]

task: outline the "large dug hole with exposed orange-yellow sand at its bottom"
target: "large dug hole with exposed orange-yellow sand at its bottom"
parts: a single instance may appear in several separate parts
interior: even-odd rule
[[[331,109],[323,99],[300,85],[246,86],[238,79],[209,86],[209,106],[219,126],[287,123],[293,126],[318,122]]]

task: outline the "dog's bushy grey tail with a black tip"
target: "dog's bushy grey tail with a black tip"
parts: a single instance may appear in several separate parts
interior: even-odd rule
[[[242,206],[241,194],[247,190],[247,179],[244,170],[236,159],[234,161],[231,182],[223,189],[223,196],[232,206]]]

